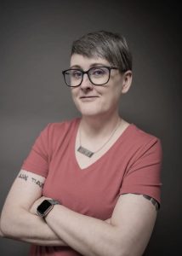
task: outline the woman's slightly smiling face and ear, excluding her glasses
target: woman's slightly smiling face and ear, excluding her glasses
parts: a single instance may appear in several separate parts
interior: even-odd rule
[[[90,67],[112,65],[102,58],[88,58],[83,55],[71,56],[71,68],[87,71]],[[119,100],[122,93],[126,93],[131,84],[131,72],[119,73],[111,69],[111,77],[107,84],[94,85],[84,74],[82,84],[71,88],[71,95],[77,109],[83,116],[100,116],[118,111]]]

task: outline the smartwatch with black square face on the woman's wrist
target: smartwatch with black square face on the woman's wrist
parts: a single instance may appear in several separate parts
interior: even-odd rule
[[[38,207],[37,207],[37,215],[40,217],[45,217],[48,215],[48,212],[50,212],[54,205],[60,205],[60,201],[56,201],[53,199],[50,200],[44,200]]]

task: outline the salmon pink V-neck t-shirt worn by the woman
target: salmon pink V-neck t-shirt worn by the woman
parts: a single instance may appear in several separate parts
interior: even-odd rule
[[[43,195],[84,215],[111,218],[118,197],[149,195],[160,203],[160,140],[130,124],[108,151],[81,169],[75,155],[80,119],[52,123],[41,132],[22,169],[46,178]],[[77,256],[70,247],[32,246],[31,256]]]

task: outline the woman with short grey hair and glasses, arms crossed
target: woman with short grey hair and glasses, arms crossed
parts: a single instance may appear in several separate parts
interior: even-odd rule
[[[3,207],[3,236],[30,255],[142,255],[160,204],[160,140],[119,115],[132,82],[126,40],[112,32],[75,41],[65,83],[81,119],[49,124]]]

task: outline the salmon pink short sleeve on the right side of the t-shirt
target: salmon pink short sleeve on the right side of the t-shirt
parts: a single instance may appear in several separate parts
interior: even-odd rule
[[[127,193],[149,195],[161,202],[162,145],[158,138],[139,148],[128,165],[120,195]]]

